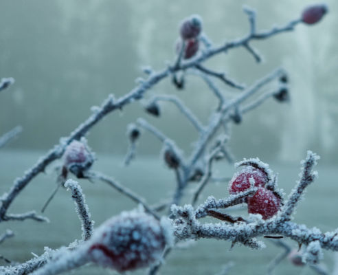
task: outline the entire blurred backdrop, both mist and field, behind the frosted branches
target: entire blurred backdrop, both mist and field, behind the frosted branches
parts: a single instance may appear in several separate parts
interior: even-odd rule
[[[136,78],[146,77],[142,66],[149,65],[157,71],[174,61],[174,43],[183,18],[200,14],[205,33],[215,45],[220,45],[247,34],[249,23],[243,4],[256,9],[258,30],[265,30],[299,18],[304,6],[311,3],[308,0],[0,0],[0,78],[11,76],[16,80],[0,93],[0,135],[18,124],[23,126],[23,133],[0,151],[0,195],[40,155],[58,144],[60,137],[69,135],[83,122],[93,105],[100,105],[109,94],[118,98],[133,89]],[[293,188],[299,173],[299,164],[294,162],[300,162],[308,149],[321,155],[319,180],[308,188],[295,221],[317,226],[324,232],[335,230],[338,220],[338,3],[334,0],[327,3],[330,11],[320,23],[300,24],[293,32],[254,41],[252,45],[264,56],[261,64],[243,49],[220,54],[206,63],[207,67],[226,72],[247,86],[276,67],[286,69],[291,102],[280,104],[269,99],[244,115],[241,124],[232,125],[230,145],[236,160],[260,157],[269,162],[280,173],[279,184],[286,193]],[[217,84],[229,97],[240,93],[223,83]],[[154,94],[179,96],[204,123],[209,121],[217,104],[199,78],[188,76],[183,91],[178,91],[168,78],[148,91],[141,102],[108,115],[88,135],[89,145],[98,156],[95,169],[115,177],[150,204],[172,196],[174,173],[159,162],[161,144],[148,133],[139,140],[135,162],[131,167],[122,166],[128,147],[127,124],[139,117],[146,118],[176,140],[187,155],[196,140],[192,126],[172,105],[161,105],[161,118],[144,112],[147,98]],[[51,165],[46,174],[38,175],[23,190],[10,212],[42,208],[55,188],[54,167]],[[234,167],[224,162],[214,170],[216,176],[231,177],[234,173]],[[135,203],[109,186],[88,181],[80,184],[95,225],[135,207]],[[195,186],[188,190],[187,201]],[[226,190],[226,182],[210,184],[201,201],[207,195],[224,197]],[[247,214],[246,210],[240,214]],[[0,255],[12,261],[27,261],[32,258],[31,252],[41,254],[46,245],[59,248],[80,238],[80,222],[66,190],[58,192],[45,215],[50,223],[0,223],[0,233],[10,228],[16,234],[1,243]],[[265,274],[267,264],[281,252],[269,241],[266,243],[268,248],[259,253],[239,246],[229,253],[229,242],[202,240],[194,248],[175,250],[162,274],[211,275],[229,261],[235,263],[229,274]],[[297,248],[297,243],[289,244]],[[326,253],[324,264],[333,270],[337,259],[337,255]],[[98,272],[113,273],[84,267],[74,274]],[[316,273],[309,267],[297,270],[284,261],[275,274]]]

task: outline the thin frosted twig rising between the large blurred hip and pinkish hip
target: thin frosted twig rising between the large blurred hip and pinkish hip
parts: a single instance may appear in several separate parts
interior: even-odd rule
[[[68,179],[65,183],[65,187],[71,190],[71,197],[74,199],[76,212],[78,212],[78,217],[82,223],[82,239],[86,241],[93,234],[94,222],[91,220],[91,213],[84,199],[82,188],[78,182],[73,179]]]

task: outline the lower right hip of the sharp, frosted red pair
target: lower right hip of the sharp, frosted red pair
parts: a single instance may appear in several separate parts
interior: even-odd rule
[[[272,191],[258,188],[257,192],[247,198],[247,210],[251,214],[261,214],[262,219],[273,217],[280,210],[281,200]]]

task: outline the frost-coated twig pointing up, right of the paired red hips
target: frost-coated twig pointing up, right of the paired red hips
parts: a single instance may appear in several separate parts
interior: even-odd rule
[[[282,217],[285,220],[291,219],[291,214],[297,206],[297,202],[300,201],[305,188],[311,184],[317,177],[317,171],[313,171],[313,167],[317,164],[319,156],[311,151],[308,151],[306,159],[302,160],[302,170],[300,173],[300,181],[297,181],[297,185],[291,191],[288,201],[282,208]]]

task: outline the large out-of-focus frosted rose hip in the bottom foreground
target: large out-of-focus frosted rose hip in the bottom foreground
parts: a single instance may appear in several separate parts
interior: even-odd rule
[[[89,240],[89,259],[117,272],[136,270],[161,259],[166,229],[144,212],[122,212],[107,220]]]

